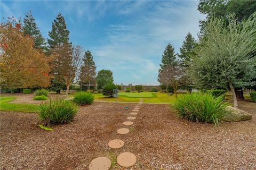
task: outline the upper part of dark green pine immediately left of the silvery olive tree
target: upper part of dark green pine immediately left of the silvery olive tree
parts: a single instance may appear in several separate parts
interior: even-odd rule
[[[196,40],[192,37],[191,33],[188,32],[185,40],[183,41],[183,45],[180,48],[179,58],[181,60],[181,65],[186,69],[188,67],[188,63],[191,60],[191,56],[193,55],[194,48],[196,45]]]

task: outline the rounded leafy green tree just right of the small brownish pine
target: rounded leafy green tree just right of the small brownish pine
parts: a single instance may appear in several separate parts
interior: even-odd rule
[[[98,89],[105,86],[108,83],[114,83],[113,73],[110,70],[100,70],[97,75]]]

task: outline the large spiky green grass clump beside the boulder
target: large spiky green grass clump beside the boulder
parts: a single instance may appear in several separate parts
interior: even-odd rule
[[[181,95],[174,101],[173,108],[177,115],[194,122],[206,122],[219,125],[229,112],[228,103],[222,97],[214,97],[210,92]]]

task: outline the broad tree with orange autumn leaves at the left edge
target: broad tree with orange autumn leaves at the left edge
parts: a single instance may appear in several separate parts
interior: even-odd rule
[[[48,87],[49,57],[34,48],[34,39],[24,36],[20,23],[13,18],[0,27],[1,88]]]

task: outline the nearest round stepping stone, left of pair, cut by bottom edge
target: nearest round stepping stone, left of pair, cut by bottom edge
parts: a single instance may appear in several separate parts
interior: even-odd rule
[[[111,160],[106,157],[98,157],[92,160],[89,165],[90,170],[108,170],[111,166]]]

